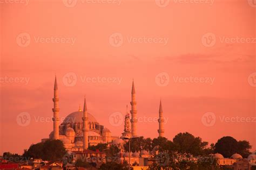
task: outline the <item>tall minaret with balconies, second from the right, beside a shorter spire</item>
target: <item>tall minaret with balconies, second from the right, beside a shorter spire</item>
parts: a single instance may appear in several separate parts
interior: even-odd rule
[[[132,136],[137,136],[137,110],[136,110],[136,104],[137,102],[135,101],[135,88],[134,88],[134,82],[132,81],[132,101],[131,101],[131,107],[132,110],[131,115],[131,123],[132,123]]]

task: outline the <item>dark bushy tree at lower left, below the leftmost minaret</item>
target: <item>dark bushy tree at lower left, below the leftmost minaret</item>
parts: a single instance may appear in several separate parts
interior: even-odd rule
[[[23,156],[27,158],[42,158],[43,160],[62,160],[66,149],[61,140],[46,140],[44,143],[31,145]]]

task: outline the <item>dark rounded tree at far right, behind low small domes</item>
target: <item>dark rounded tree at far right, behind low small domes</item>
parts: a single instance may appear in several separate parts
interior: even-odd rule
[[[222,154],[225,158],[230,158],[234,153],[239,153],[243,158],[246,158],[250,154],[250,148],[252,146],[248,141],[237,141],[233,137],[226,136],[217,141],[214,152]]]

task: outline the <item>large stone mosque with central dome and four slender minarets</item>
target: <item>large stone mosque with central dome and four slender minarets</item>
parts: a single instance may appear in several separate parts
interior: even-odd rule
[[[42,141],[48,139],[59,139],[68,151],[83,151],[87,150],[88,146],[97,145],[99,143],[122,144],[122,138],[131,138],[137,136],[137,109],[135,98],[134,82],[132,82],[131,91],[131,118],[128,111],[126,111],[124,120],[124,132],[122,137],[112,136],[111,131],[97,122],[96,118],[87,112],[86,99],[84,98],[83,110],[79,107],[78,111],[69,114],[64,121],[59,125],[59,98],[58,85],[55,76],[54,95],[53,95],[53,131],[49,134],[49,138],[44,138]],[[127,110],[127,107],[126,107]],[[159,137],[164,137],[164,118],[163,109],[159,107]]]

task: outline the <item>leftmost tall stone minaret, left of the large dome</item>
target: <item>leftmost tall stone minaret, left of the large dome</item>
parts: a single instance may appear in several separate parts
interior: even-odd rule
[[[59,98],[58,98],[58,85],[57,79],[55,76],[55,83],[54,83],[54,97],[52,98],[54,103],[53,111],[53,139],[59,139]]]

